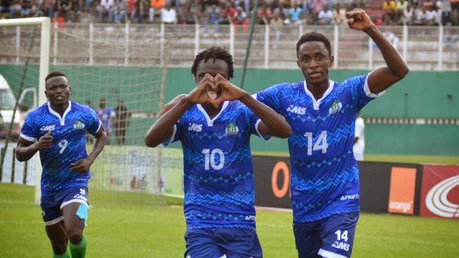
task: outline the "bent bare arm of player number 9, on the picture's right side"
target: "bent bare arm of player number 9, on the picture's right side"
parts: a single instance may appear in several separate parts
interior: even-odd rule
[[[105,128],[104,125],[102,125],[102,123],[100,123],[99,130],[97,130],[97,133],[94,134],[94,137],[95,142],[93,151],[90,152],[90,154],[86,156],[84,159],[79,159],[78,161],[71,163],[71,171],[76,171],[78,173],[87,173],[91,165],[93,165],[97,156],[99,156],[100,152],[102,152],[102,149],[104,149],[105,144],[107,143],[107,133],[105,132]]]

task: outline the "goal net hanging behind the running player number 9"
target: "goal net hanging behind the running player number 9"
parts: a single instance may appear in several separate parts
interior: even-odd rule
[[[42,72],[44,76],[59,70],[72,87],[71,100],[91,106],[109,133],[109,143],[91,166],[90,200],[162,204],[162,170],[173,169],[162,159],[166,156],[168,160],[178,160],[177,154],[145,147],[143,137],[164,102],[168,53],[174,35],[165,34],[162,25],[51,24],[49,54],[42,56],[42,27],[0,23],[0,75],[5,81],[0,88],[2,116],[3,109],[9,112],[14,106],[4,105],[4,99],[16,102],[25,89],[36,91],[34,94],[30,90],[20,99],[20,112],[11,131],[13,138],[27,111],[35,108],[34,99],[41,100],[37,101],[39,105],[45,101],[44,96],[36,96],[44,90],[44,85],[38,87],[44,80],[40,67],[49,66]],[[47,64],[43,65],[43,59]],[[4,97],[4,92],[9,97]],[[5,130],[11,116],[3,120]],[[94,139],[88,135],[86,140],[90,152]],[[9,142],[5,149],[2,140],[1,147],[6,152],[1,182],[25,183],[39,189],[40,165],[33,160],[14,161],[16,142]]]

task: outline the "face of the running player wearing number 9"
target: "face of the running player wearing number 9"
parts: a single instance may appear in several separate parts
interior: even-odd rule
[[[67,104],[70,99],[71,87],[64,76],[49,78],[46,82],[44,94],[49,102],[54,105]]]

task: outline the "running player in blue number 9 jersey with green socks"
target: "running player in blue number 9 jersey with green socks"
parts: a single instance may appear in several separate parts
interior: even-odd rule
[[[26,161],[40,152],[40,206],[53,257],[85,257],[83,229],[88,220],[90,166],[107,140],[95,111],[71,102],[71,87],[63,73],[45,79],[49,102],[30,112],[20,131],[16,158]],[[93,152],[85,149],[85,132],[95,136]]]

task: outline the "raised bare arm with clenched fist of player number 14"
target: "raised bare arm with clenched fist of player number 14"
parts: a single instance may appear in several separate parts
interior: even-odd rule
[[[378,48],[381,49],[381,54],[387,64],[386,67],[376,68],[369,74],[367,82],[370,92],[378,94],[391,87],[395,82],[402,80],[409,70],[407,63],[381,30],[371,21],[368,14],[357,8],[347,12],[346,17],[347,25],[350,28],[362,30],[373,39]]]

